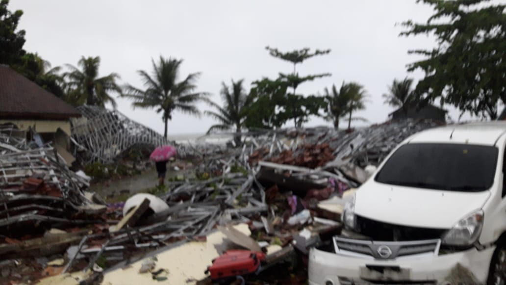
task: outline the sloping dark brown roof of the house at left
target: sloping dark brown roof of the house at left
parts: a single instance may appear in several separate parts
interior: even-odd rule
[[[68,119],[77,109],[0,64],[0,119]]]

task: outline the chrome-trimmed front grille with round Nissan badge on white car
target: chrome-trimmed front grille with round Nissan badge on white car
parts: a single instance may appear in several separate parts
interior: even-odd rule
[[[438,255],[441,245],[440,239],[370,241],[334,236],[333,241],[336,253],[384,260],[413,255]]]

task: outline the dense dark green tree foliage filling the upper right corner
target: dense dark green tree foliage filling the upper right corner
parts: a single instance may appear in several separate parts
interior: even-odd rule
[[[420,2],[420,0],[418,0]],[[426,23],[404,22],[401,35],[433,34],[437,47],[412,50],[423,60],[408,66],[425,78],[415,89],[421,102],[436,99],[462,113],[497,116],[497,103],[506,103],[506,5],[488,0],[421,0],[434,7]]]

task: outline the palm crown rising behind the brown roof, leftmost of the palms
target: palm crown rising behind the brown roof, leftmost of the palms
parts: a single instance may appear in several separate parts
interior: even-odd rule
[[[110,73],[107,76],[99,77],[98,69],[100,66],[100,57],[81,57],[77,63],[79,68],[67,64],[69,72],[63,74],[66,82],[66,89],[70,100],[76,105],[96,105],[105,107],[106,103],[111,103],[116,108],[116,101],[110,95],[110,92],[116,92],[121,95],[121,88],[116,80],[119,75]]]

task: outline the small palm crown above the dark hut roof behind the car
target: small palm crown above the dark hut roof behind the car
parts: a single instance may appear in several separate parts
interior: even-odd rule
[[[388,87],[389,94],[383,94],[385,103],[401,108],[404,115],[407,115],[409,107],[414,103],[415,97],[411,85],[413,79],[404,78],[402,81],[394,79],[391,86]]]

